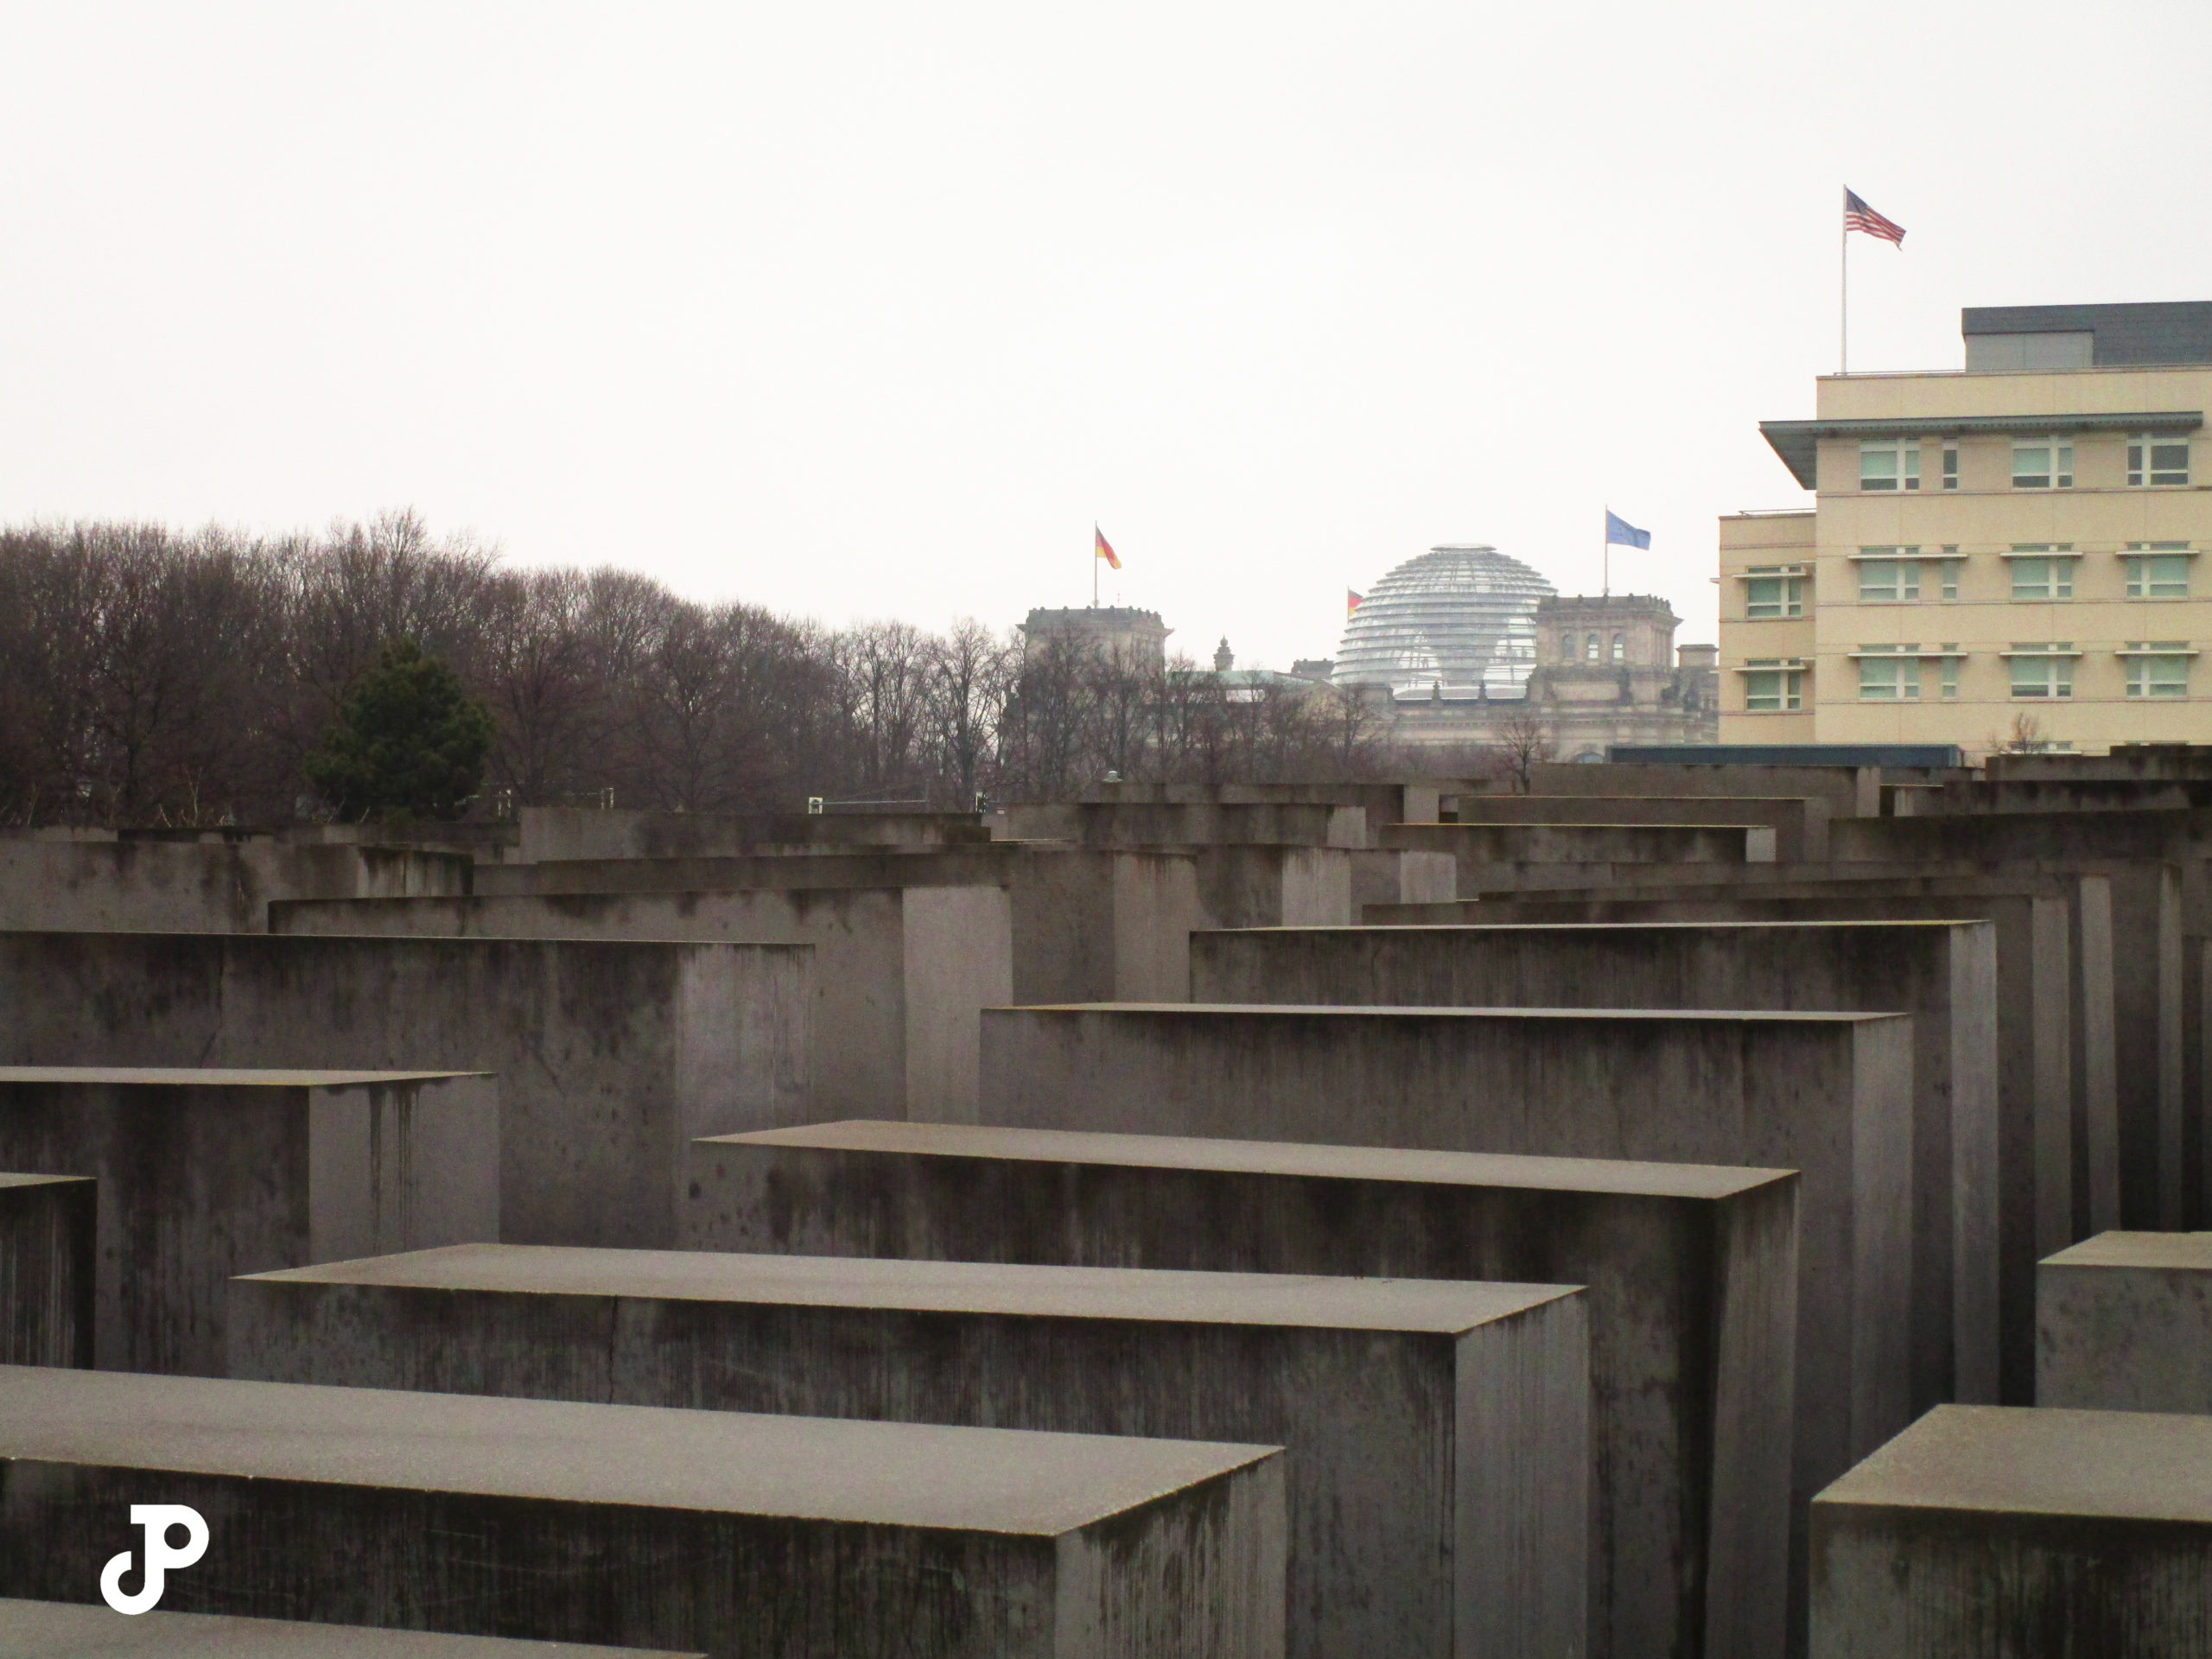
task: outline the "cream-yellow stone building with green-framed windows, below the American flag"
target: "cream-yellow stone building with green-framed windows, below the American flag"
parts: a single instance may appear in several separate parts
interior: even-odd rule
[[[1761,431],[1812,509],[1721,520],[1723,743],[2212,739],[2212,303],[1964,314],[1960,374]]]

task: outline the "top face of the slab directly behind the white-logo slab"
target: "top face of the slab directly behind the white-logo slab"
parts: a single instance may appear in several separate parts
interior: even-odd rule
[[[1513,1318],[1573,1292],[1571,1285],[1458,1279],[1329,1279],[493,1243],[285,1267],[246,1274],[243,1281],[1444,1336]]]

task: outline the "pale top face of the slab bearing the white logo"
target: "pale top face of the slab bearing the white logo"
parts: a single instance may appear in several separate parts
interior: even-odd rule
[[[0,1462],[1042,1537],[1274,1451],[0,1365]]]

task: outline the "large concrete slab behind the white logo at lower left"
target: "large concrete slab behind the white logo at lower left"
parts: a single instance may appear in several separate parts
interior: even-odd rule
[[[0,1595],[712,1659],[1283,1650],[1270,1447],[0,1369]]]

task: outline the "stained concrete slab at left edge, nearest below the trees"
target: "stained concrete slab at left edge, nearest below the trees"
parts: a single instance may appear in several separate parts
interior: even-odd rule
[[[55,841],[0,832],[0,929],[261,933],[272,898],[465,894],[469,858],[241,832]]]

